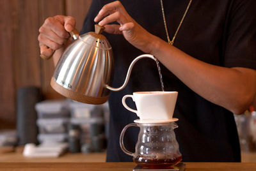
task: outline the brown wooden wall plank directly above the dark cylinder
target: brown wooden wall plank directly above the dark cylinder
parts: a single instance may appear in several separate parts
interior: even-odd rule
[[[36,85],[40,87],[40,59],[38,41],[38,1],[12,0],[13,59],[16,87]]]

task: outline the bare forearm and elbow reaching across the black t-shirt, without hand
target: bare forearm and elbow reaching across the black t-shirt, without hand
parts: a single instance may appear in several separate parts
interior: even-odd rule
[[[204,63],[154,37],[151,54],[206,100],[239,114],[253,104],[256,71]]]

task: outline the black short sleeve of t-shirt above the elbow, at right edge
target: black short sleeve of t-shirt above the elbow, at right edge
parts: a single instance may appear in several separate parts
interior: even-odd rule
[[[256,1],[232,1],[224,66],[256,69]]]

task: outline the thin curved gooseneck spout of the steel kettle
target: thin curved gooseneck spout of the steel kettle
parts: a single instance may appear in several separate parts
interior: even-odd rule
[[[109,85],[106,85],[106,88],[109,89],[109,90],[111,90],[111,91],[120,91],[120,90],[124,89],[124,87],[127,85],[128,80],[129,80],[129,78],[130,78],[131,71],[132,71],[132,67],[134,66],[134,64],[135,64],[138,60],[140,60],[140,59],[142,59],[142,58],[144,58],[144,57],[149,57],[149,58],[153,59],[154,61],[157,61],[156,57],[154,57],[154,56],[152,56],[152,55],[150,55],[150,54],[143,54],[143,55],[141,55],[141,56],[136,57],[136,58],[132,61],[132,63],[130,64],[130,66],[129,66],[129,69],[128,69],[128,71],[127,71],[127,75],[126,75],[124,84],[123,84],[121,87],[118,87],[118,88],[113,88],[113,87],[110,87]]]

